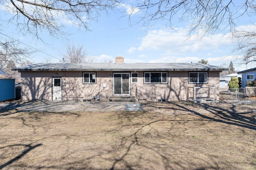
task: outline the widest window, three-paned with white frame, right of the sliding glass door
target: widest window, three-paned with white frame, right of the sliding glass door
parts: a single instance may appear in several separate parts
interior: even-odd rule
[[[167,72],[144,72],[144,83],[167,83]]]

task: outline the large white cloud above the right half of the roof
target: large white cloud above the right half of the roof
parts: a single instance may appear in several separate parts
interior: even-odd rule
[[[178,29],[176,32],[171,30],[153,30],[142,38],[138,51],[162,50],[178,53],[200,52],[209,50],[218,50],[220,47],[230,45],[231,39],[228,35],[216,34],[197,39],[197,35],[192,35],[189,39],[184,29]]]

